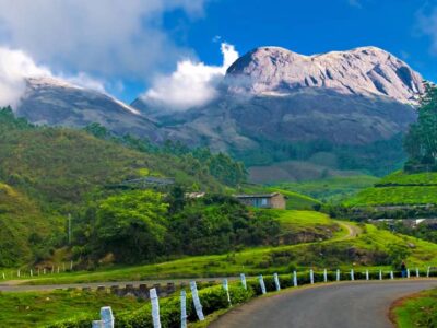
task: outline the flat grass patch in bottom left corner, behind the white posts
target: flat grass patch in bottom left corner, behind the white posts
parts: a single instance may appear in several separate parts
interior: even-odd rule
[[[102,306],[115,314],[137,309],[144,302],[135,297],[79,291],[25,292],[0,294],[0,327],[45,327],[59,320],[82,316],[99,318]]]

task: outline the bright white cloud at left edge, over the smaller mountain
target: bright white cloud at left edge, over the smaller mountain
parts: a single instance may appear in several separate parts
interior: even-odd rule
[[[54,74],[45,66],[37,65],[35,60],[22,50],[0,47],[0,107],[12,106],[16,108],[20,98],[26,91],[26,79],[50,78],[50,83],[60,80],[76,86],[93,89],[105,93],[102,81],[95,80],[86,73],[76,75]]]

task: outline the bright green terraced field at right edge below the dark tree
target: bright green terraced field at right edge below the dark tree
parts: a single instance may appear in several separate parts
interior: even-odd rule
[[[344,202],[349,207],[437,204],[437,174],[389,175]]]

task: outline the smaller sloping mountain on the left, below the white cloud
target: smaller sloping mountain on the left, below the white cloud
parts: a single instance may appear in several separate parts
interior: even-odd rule
[[[160,140],[155,124],[137,109],[104,93],[56,78],[29,78],[16,115],[33,124],[85,127],[98,122],[111,131]]]

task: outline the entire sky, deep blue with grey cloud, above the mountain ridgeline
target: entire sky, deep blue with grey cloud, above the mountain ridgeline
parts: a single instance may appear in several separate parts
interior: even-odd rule
[[[437,81],[437,0],[0,0],[0,55],[15,51],[0,58],[0,74],[1,62],[48,70],[127,103],[172,82],[184,60],[220,72],[223,42],[240,55],[265,45],[305,55],[371,45]],[[0,79],[0,91],[11,83]]]

